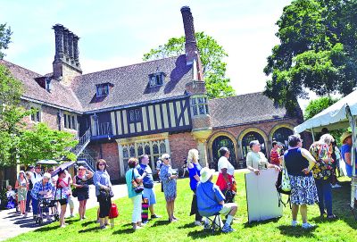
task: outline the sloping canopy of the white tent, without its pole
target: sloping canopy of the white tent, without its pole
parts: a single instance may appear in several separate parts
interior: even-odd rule
[[[316,114],[311,119],[296,126],[294,131],[295,133],[302,133],[304,130],[310,129],[320,131],[324,127],[328,127],[329,130],[349,127],[347,108],[350,109],[353,116],[357,115],[357,90],[345,96],[336,102],[336,104],[329,106],[321,113]]]

